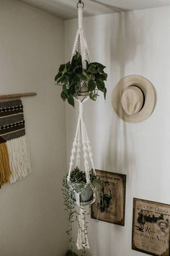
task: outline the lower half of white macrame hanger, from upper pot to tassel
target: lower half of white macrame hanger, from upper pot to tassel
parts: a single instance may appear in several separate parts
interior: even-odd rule
[[[76,126],[76,135],[73,140],[73,148],[71,150],[71,158],[70,158],[70,166],[69,166],[69,172],[68,172],[68,178],[67,182],[68,185],[70,186],[70,189],[74,192],[75,195],[75,200],[76,200],[76,205],[80,209],[79,213],[79,230],[78,230],[78,237],[77,237],[77,242],[76,242],[76,247],[78,249],[88,249],[89,248],[89,241],[87,237],[87,227],[84,221],[84,216],[85,216],[85,211],[84,211],[84,206],[86,205],[85,202],[81,202],[81,193],[83,193],[86,189],[87,186],[90,186],[91,189],[93,190],[93,199],[89,202],[89,204],[92,204],[96,200],[96,189],[95,187],[91,184],[90,181],[90,168],[89,168],[89,161],[91,162],[92,169],[94,171],[95,175],[95,168],[94,168],[94,161],[93,161],[93,154],[91,152],[91,145],[89,141],[89,137],[86,132],[86,125],[84,122],[84,116],[83,116],[83,111],[84,111],[84,102],[86,102],[88,98],[85,98],[84,101],[81,101],[81,98],[76,98],[76,101],[79,102],[79,118],[77,121],[77,126]],[[86,184],[84,187],[81,189],[81,191],[77,192],[76,187],[73,187],[73,185],[70,182],[71,178],[71,171],[73,169],[73,163],[76,162],[76,166],[80,168],[80,160],[81,160],[81,146],[83,149],[83,155],[84,155],[84,170],[86,174]],[[75,158],[76,154],[76,158]]]

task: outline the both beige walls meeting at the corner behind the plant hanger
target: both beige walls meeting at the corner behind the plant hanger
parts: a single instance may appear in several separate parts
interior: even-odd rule
[[[89,219],[86,255],[138,256],[131,249],[133,197],[170,203],[170,8],[88,17],[84,27],[91,61],[105,64],[108,73],[107,101],[101,95],[85,107],[95,166],[127,175],[125,226]],[[1,94],[37,93],[22,100],[32,174],[0,190],[1,256],[63,256],[68,247],[61,179],[78,108],[65,112],[53,77],[64,61],[64,36],[70,59],[76,28],[77,20],[64,27],[50,14],[0,0]],[[143,75],[156,88],[156,108],[139,124],[125,123],[112,108],[112,90],[129,74]]]

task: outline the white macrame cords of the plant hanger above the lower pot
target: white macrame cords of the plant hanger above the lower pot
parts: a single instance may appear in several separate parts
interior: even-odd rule
[[[81,0],[79,0],[79,2],[77,4],[78,18],[79,18],[79,29],[77,30],[77,33],[76,33],[76,39],[75,39],[75,42],[73,45],[71,61],[73,59],[73,56],[76,54],[76,51],[78,51],[81,54],[82,67],[83,67],[83,69],[86,69],[86,61],[90,62],[90,59],[89,59],[89,49],[88,49],[88,46],[86,43],[86,38],[84,36],[84,30],[83,30],[83,8],[84,8],[84,3]],[[86,126],[85,126],[84,117],[83,117],[83,109],[84,109],[83,104],[88,99],[89,99],[89,97],[85,98],[85,100],[83,102],[81,102],[81,100],[79,100],[79,99],[76,99],[76,101],[79,102],[79,119],[78,119],[77,127],[76,127],[76,135],[73,140],[73,148],[71,150],[71,158],[70,158],[68,178],[67,178],[68,183],[70,181],[71,170],[73,168],[73,162],[75,160],[75,154],[76,154],[76,166],[77,167],[80,166],[81,141],[83,144],[83,152],[84,152],[84,167],[85,167],[85,173],[86,173],[86,184],[90,183],[88,158],[91,161],[92,170],[94,171],[94,174],[96,174],[95,168],[94,168],[93,154],[91,152],[91,145],[90,145],[89,137],[86,132]]]

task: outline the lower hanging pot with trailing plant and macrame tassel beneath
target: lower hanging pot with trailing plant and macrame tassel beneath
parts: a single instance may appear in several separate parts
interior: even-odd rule
[[[69,174],[68,174],[69,175]],[[78,249],[89,248],[89,242],[87,238],[87,225],[85,207],[90,207],[94,202],[96,195],[99,197],[102,189],[102,185],[98,176],[94,174],[94,171],[90,171],[90,183],[86,184],[86,174],[78,167],[71,170],[69,176],[63,177],[63,197],[64,205],[68,211],[69,229],[67,233],[70,235],[70,242],[73,241],[72,235],[72,223],[77,221],[79,226],[79,234],[77,240]],[[69,182],[68,182],[69,181]],[[79,200],[77,197],[79,194]],[[79,210],[76,210],[75,205]],[[83,239],[83,240],[82,240]]]

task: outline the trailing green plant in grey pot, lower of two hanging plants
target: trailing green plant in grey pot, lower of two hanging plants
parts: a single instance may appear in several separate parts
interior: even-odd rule
[[[68,184],[67,176],[63,177],[63,198],[65,210],[68,213],[68,230],[66,233],[70,236],[69,242],[71,242],[73,247],[74,239],[72,235],[72,224],[78,221],[79,226],[79,211],[76,209],[76,197],[75,191],[81,193],[80,203],[82,206],[88,205],[94,197],[94,191],[91,189],[90,185],[86,185],[86,174],[81,171],[78,167],[71,171],[70,184]],[[93,171],[90,171],[90,184],[95,190],[96,196],[99,198],[101,193],[101,182],[99,176],[95,176]],[[86,219],[86,214],[84,213],[84,219]],[[86,226],[84,232],[87,232],[87,221],[85,220]]]

